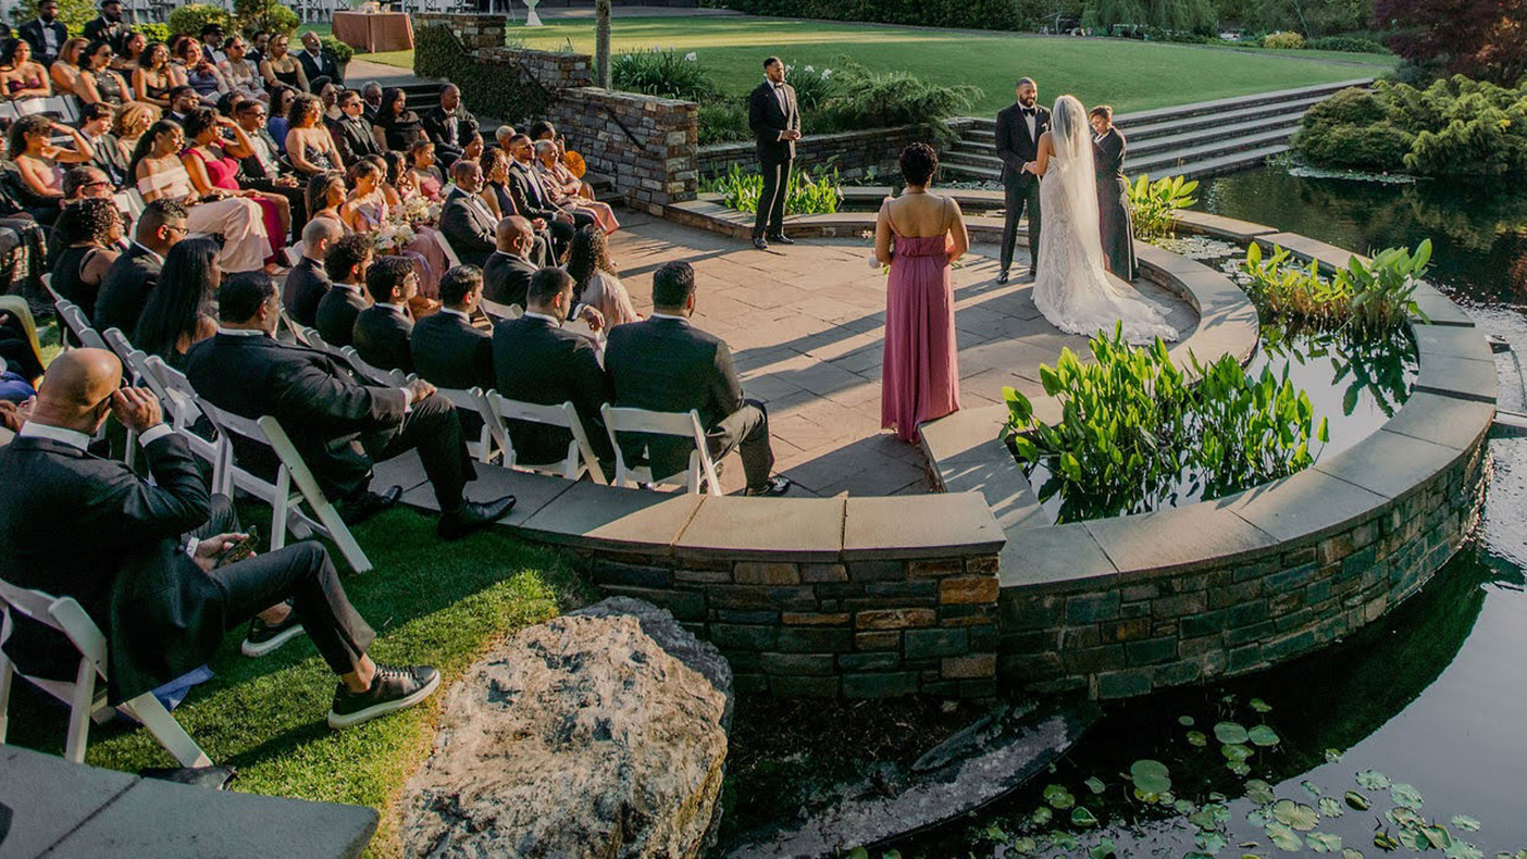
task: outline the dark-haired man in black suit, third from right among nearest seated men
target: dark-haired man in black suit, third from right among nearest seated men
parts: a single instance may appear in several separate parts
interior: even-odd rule
[[[483,272],[476,265],[446,272],[440,279],[440,301],[444,302],[440,313],[414,323],[409,342],[414,372],[440,388],[493,388],[493,339],[472,325],[481,298]],[[475,427],[464,429],[470,435]]]

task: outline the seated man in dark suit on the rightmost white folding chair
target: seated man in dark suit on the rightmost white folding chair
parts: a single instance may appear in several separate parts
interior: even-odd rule
[[[699,412],[710,456],[736,450],[747,475],[747,494],[779,496],[789,479],[770,476],[768,413],[764,403],[742,398],[742,383],[731,366],[731,349],[690,323],[695,313],[695,269],[664,262],[652,275],[652,317],[611,328],[605,371],[615,406],[652,412]],[[647,462],[654,476],[669,476],[689,465],[693,444],[675,438],[620,439],[626,462]],[[647,455],[641,452],[646,449]]]

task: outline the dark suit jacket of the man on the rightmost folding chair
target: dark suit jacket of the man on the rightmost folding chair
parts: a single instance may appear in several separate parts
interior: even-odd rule
[[[605,372],[617,406],[654,412],[699,412],[707,429],[742,407],[742,381],[731,365],[731,349],[686,320],[651,317],[609,330]],[[628,462],[640,455],[641,439],[621,439]],[[652,438],[647,442],[652,473],[673,475],[689,464],[693,444]],[[640,458],[640,456],[638,456]]]

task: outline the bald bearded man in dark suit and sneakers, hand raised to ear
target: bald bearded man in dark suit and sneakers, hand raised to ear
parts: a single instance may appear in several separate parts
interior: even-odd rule
[[[111,352],[58,356],[31,418],[0,450],[6,581],[72,597],[101,627],[107,702],[130,700],[206,664],[224,633],[246,619],[246,651],[269,651],[298,630],[313,641],[341,680],[331,728],[429,697],[440,685],[434,668],[389,668],[366,656],[376,633],[345,598],[321,543],[218,563],[247,539],[234,532],[232,502],[208,494],[199,461],[185,436],[163,424],[153,392],[119,389],[121,381]],[[107,415],[137,433],[153,482],[86,450]],[[73,659],[55,662],[69,651],[56,633],[23,616],[15,624],[6,655],[23,671],[73,677]]]

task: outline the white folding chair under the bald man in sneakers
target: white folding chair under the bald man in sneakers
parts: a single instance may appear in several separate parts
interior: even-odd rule
[[[20,670],[5,655],[3,645],[11,638],[11,612],[15,610],[34,621],[55,629],[79,651],[79,668],[73,682],[32,677]],[[105,684],[96,685],[96,677],[107,679],[107,642],[101,627],[90,619],[72,597],[50,597],[41,590],[18,587],[0,580],[0,743],[6,737],[6,722],[11,705],[11,676],[20,674],[32,685],[69,705],[69,735],[64,743],[64,758],[84,763],[90,720],[98,713],[108,713]],[[180,766],[212,766],[212,758],[197,746],[191,734],[176,722],[176,717],[159,703],[153,693],[144,693],[122,705],[148,732],[159,740]]]

